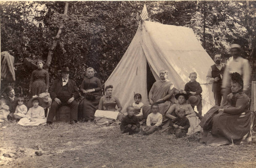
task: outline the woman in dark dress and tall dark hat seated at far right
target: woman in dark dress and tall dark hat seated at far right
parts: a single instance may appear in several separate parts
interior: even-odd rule
[[[204,131],[200,143],[220,146],[252,141],[255,112],[247,110],[250,99],[243,92],[243,79],[237,72],[231,74],[231,91],[226,103],[213,106],[204,115],[200,123]]]

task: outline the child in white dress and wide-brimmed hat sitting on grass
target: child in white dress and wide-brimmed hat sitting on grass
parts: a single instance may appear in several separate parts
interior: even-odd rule
[[[38,96],[31,98],[28,102],[30,107],[25,118],[19,120],[18,124],[22,126],[38,126],[46,124],[45,110],[39,104],[42,100]]]

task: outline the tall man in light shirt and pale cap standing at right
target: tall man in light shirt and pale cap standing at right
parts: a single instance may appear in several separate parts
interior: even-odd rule
[[[233,60],[227,65],[223,80],[222,80],[222,93],[223,100],[221,104],[227,101],[227,95],[231,93],[231,80],[230,74],[233,72],[239,73],[244,81],[243,92],[247,93],[249,88],[249,80],[251,76],[250,65],[247,59],[242,58],[241,56],[242,48],[239,44],[231,44],[230,54],[233,57]]]

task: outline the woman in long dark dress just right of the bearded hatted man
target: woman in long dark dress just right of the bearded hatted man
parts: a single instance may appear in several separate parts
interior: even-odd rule
[[[101,82],[94,76],[95,70],[87,68],[87,78],[84,78],[81,84],[80,91],[83,93],[84,99],[79,103],[79,118],[83,121],[93,121],[94,113],[98,109],[99,100],[101,97]]]

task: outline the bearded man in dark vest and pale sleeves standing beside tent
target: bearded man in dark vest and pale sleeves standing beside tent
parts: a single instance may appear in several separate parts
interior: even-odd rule
[[[215,105],[221,105],[221,84],[226,64],[221,63],[221,55],[214,56],[215,64],[212,65],[207,73],[207,83],[212,83],[212,92],[214,92]]]

